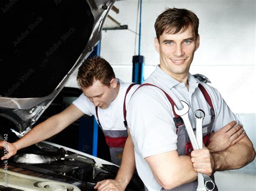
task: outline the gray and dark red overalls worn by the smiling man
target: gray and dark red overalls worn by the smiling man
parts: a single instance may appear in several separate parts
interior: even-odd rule
[[[154,86],[157,87],[153,84],[150,83],[144,83],[142,85],[140,85],[138,88],[143,87],[143,86]],[[210,95],[207,93],[206,89],[199,83],[198,84],[199,89],[201,90],[201,93],[204,95],[206,102],[210,105],[210,114],[211,114],[211,122],[209,124],[203,125],[203,142],[205,144],[205,146],[207,146],[210,143],[210,135],[211,132],[213,131],[213,122],[215,119],[215,114],[214,114],[214,108],[213,108],[213,104],[212,104],[212,100]],[[159,88],[159,87],[157,87]],[[177,151],[179,155],[191,155],[191,152],[193,151],[193,147],[192,144],[190,142],[190,138],[188,137],[185,125],[183,123],[183,119],[178,116],[176,114],[176,112],[174,111],[174,101],[172,100],[172,98],[161,88],[159,88],[161,91],[163,91],[163,93],[165,94],[165,96],[167,97],[167,99],[169,100],[171,106],[172,106],[172,111],[173,111],[173,121],[174,124],[176,126],[176,133],[178,135],[178,142],[177,142]],[[196,130],[195,128],[193,130]],[[211,176],[212,180],[214,181],[214,176]],[[171,191],[196,191],[197,190],[197,186],[198,186],[198,181],[195,180],[193,182],[190,183],[186,183],[184,185],[181,185],[179,187],[170,189]],[[147,190],[147,188],[145,187],[145,190]],[[166,190],[164,188],[162,188],[161,190]],[[169,191],[170,191],[169,190]],[[167,191],[167,190],[166,190]],[[215,186],[214,191],[218,191],[217,186]]]

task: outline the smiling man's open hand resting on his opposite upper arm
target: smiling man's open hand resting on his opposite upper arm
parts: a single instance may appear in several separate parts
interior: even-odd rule
[[[236,125],[235,121],[228,123],[218,132],[212,132],[210,136],[210,144],[207,148],[213,152],[225,151],[228,147],[238,143],[245,137],[245,131],[242,125]]]

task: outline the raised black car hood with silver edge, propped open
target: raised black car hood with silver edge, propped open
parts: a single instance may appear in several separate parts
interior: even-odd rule
[[[1,128],[31,129],[96,46],[114,1],[1,1]]]

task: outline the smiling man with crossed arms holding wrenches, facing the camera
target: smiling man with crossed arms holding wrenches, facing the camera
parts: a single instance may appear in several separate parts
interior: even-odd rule
[[[189,73],[199,47],[198,25],[198,17],[186,9],[166,9],[158,16],[154,44],[160,65],[144,82],[157,87],[148,84],[138,88],[127,106],[128,139],[132,138],[137,172],[146,190],[196,190],[197,172],[213,175],[241,168],[254,159],[250,139],[220,93]],[[163,91],[178,109],[183,108],[180,100],[190,105],[194,127],[194,111],[204,110],[203,149],[192,151],[184,123],[174,119],[172,104]],[[127,158],[132,164],[126,151],[125,147],[118,172],[123,174],[122,183],[104,180],[96,185],[98,190],[124,188],[135,168],[126,165]]]

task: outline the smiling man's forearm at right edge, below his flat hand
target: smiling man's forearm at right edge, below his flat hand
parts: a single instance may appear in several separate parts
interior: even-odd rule
[[[253,145],[244,137],[237,144],[227,148],[225,151],[212,153],[214,159],[214,170],[224,171],[228,169],[237,169],[250,163],[255,156]]]

